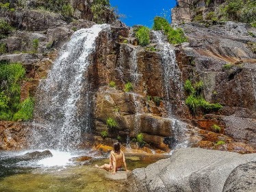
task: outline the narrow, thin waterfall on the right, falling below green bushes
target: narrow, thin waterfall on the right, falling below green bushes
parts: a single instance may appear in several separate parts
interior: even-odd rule
[[[175,57],[175,50],[171,44],[166,41],[162,31],[153,31],[157,49],[162,57],[162,71],[164,80],[164,91],[167,115],[172,122],[172,137],[174,143],[172,148],[185,148],[188,146],[185,133],[187,132],[187,124],[177,120],[175,117],[175,109],[177,103],[183,100],[183,86],[181,83],[181,71]]]

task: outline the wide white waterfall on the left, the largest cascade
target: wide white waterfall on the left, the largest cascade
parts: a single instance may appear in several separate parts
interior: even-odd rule
[[[36,103],[34,148],[71,150],[90,131],[92,93],[88,67],[95,40],[108,25],[76,31],[62,48],[47,79],[40,82]]]

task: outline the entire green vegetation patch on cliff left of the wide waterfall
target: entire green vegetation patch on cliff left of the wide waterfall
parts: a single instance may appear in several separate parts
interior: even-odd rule
[[[30,120],[33,113],[31,98],[21,102],[21,81],[25,68],[20,63],[0,64],[0,120]]]

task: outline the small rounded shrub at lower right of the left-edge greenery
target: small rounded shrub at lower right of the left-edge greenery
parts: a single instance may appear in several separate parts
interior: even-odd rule
[[[19,110],[14,113],[12,120],[31,120],[33,118],[34,99],[30,97],[26,98],[18,108]]]

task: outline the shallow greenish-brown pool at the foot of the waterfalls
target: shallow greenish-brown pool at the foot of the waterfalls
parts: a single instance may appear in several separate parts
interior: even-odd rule
[[[108,163],[107,154],[74,163],[68,159],[91,153],[51,152],[53,157],[40,161],[17,161],[16,156],[25,152],[0,152],[0,191],[126,191],[126,180],[113,180],[110,172],[94,167],[96,163]],[[167,157],[163,154],[126,154],[127,167],[129,170],[146,167]],[[125,172],[117,174],[118,178]]]

